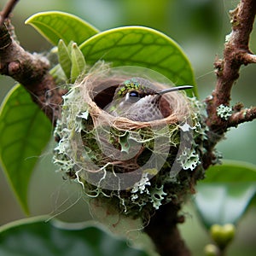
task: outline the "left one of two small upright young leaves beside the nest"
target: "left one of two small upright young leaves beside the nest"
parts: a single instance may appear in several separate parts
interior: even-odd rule
[[[64,71],[67,79],[69,79],[72,67],[71,55],[62,39],[58,44],[58,57],[61,68]]]

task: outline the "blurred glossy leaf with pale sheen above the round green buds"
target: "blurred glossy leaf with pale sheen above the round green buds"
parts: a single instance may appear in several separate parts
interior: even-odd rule
[[[204,224],[236,224],[256,193],[256,166],[225,160],[207,170],[207,178],[198,184],[195,196]]]

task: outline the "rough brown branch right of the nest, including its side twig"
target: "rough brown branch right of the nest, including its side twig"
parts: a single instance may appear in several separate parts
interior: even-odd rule
[[[227,119],[218,115],[219,106],[230,106],[231,89],[239,78],[241,65],[256,63],[256,55],[253,55],[248,47],[255,14],[255,0],[241,0],[236,9],[230,12],[232,32],[224,45],[224,58],[214,63],[217,83],[212,95],[206,99],[209,140],[205,145],[207,153],[203,155],[205,169],[214,162],[215,155],[212,149],[228,128],[255,119],[255,108],[236,109],[236,112],[231,113]]]

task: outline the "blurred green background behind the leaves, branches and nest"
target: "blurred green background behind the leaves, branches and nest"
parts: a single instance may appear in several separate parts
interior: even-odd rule
[[[0,9],[7,1],[0,0]],[[24,21],[30,15],[45,10],[61,10],[78,15],[99,30],[116,26],[142,25],[165,32],[180,44],[195,70],[195,79],[201,99],[212,92],[215,83],[213,61],[222,56],[225,36],[230,33],[229,10],[234,9],[234,0],[20,0],[15,8],[13,23],[20,44],[27,50],[43,54],[50,44]],[[250,47],[256,52],[256,30],[252,34]],[[0,102],[15,81],[0,76]],[[245,106],[256,105],[255,67],[241,68],[241,77],[234,86],[232,102],[243,102]],[[226,139],[218,144],[224,158],[245,160],[256,164],[256,123],[251,122],[231,129]],[[32,215],[52,214],[70,222],[90,218],[86,202],[78,185],[64,181],[51,163],[54,142],[49,144],[32,177],[29,201]],[[193,255],[203,255],[202,250],[209,241],[207,231],[201,226],[191,202],[183,209],[187,217],[181,225],[184,239]],[[254,255],[255,208],[249,209],[239,224],[236,240],[228,255]],[[0,224],[24,218],[14,195],[0,170]],[[196,235],[195,235],[196,234]]]

